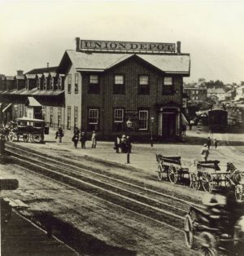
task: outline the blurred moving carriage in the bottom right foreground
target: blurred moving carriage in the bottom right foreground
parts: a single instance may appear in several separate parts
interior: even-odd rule
[[[207,207],[190,206],[185,215],[185,243],[190,249],[200,249],[201,255],[243,255],[243,205],[237,214],[226,210],[226,201]]]

